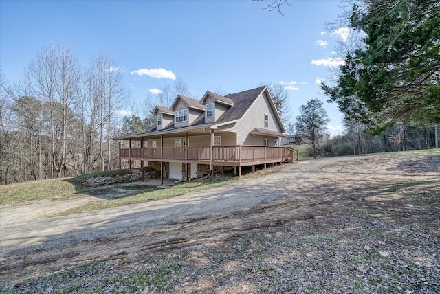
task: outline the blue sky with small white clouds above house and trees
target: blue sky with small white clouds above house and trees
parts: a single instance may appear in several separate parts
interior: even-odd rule
[[[82,67],[100,51],[118,63],[131,91],[127,113],[177,77],[199,99],[207,90],[286,87],[294,122],[301,104],[327,100],[317,82],[331,79],[329,69],[341,63],[335,46],[349,32],[326,31],[342,13],[341,1],[291,3],[281,16],[250,0],[0,0],[0,66],[9,82],[18,82],[42,47],[63,42]],[[336,105],[324,106],[329,133],[342,132]]]

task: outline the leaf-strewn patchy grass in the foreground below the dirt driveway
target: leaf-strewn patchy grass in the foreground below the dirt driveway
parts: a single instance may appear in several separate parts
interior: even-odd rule
[[[354,168],[365,165],[368,174],[369,167],[389,156],[358,157]],[[326,190],[311,181],[311,188],[301,192],[301,199],[308,200],[285,199],[246,214],[229,214],[215,220],[222,226],[204,235],[192,233],[135,256],[91,262],[0,291],[439,293],[439,152],[391,156],[399,161],[384,166],[384,174],[407,181],[389,177],[386,184],[366,181],[356,187],[327,185]],[[340,168],[326,163],[328,170]],[[402,173],[409,177],[402,178]],[[327,175],[329,183],[341,177]],[[199,220],[193,225],[212,223]]]

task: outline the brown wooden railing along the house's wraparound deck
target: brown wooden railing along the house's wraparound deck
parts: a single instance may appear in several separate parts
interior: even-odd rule
[[[214,146],[212,147],[214,163],[255,163],[298,161],[299,151],[290,147],[276,146]],[[160,148],[121,148],[120,159],[145,160],[181,160],[181,161],[210,161],[210,146],[164,147],[162,158]]]

